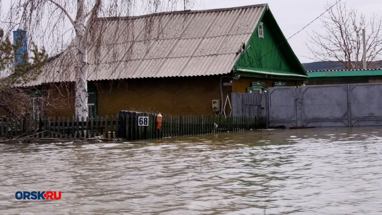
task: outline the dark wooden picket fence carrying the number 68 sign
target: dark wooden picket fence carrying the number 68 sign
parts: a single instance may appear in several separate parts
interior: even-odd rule
[[[139,117],[142,116],[148,117],[148,125],[138,126]],[[0,137],[11,139],[36,137],[145,140],[263,128],[266,128],[264,116],[163,116],[161,129],[156,128],[156,115],[147,113],[86,119],[0,119]]]

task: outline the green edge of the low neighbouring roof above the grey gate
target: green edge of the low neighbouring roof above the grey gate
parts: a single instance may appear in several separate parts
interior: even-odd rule
[[[382,69],[308,71],[309,79],[382,76]]]

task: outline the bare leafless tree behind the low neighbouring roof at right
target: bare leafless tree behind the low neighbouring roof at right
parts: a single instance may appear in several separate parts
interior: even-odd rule
[[[325,6],[326,9],[330,5]],[[367,67],[382,56],[382,19],[367,19],[354,8],[339,3],[321,19],[325,33],[313,31],[306,44],[316,61],[339,61],[345,69],[363,68],[362,29],[366,29]]]

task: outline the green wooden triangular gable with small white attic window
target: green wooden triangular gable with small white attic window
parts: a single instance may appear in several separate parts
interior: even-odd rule
[[[262,25],[263,38],[259,37],[259,25]],[[285,36],[267,8],[241,52],[233,72],[243,77],[306,79],[306,71],[285,41]]]

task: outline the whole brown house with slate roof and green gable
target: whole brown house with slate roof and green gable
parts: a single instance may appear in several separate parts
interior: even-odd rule
[[[98,22],[108,33],[102,34],[99,49],[88,50],[92,116],[120,110],[221,114],[223,101],[233,92],[247,92],[253,82],[262,88],[299,86],[307,78],[267,4]],[[147,35],[149,22],[154,29]],[[75,52],[68,47],[45,65],[39,78],[23,85],[40,88],[47,102],[64,104],[42,111],[47,116],[74,114]]]

